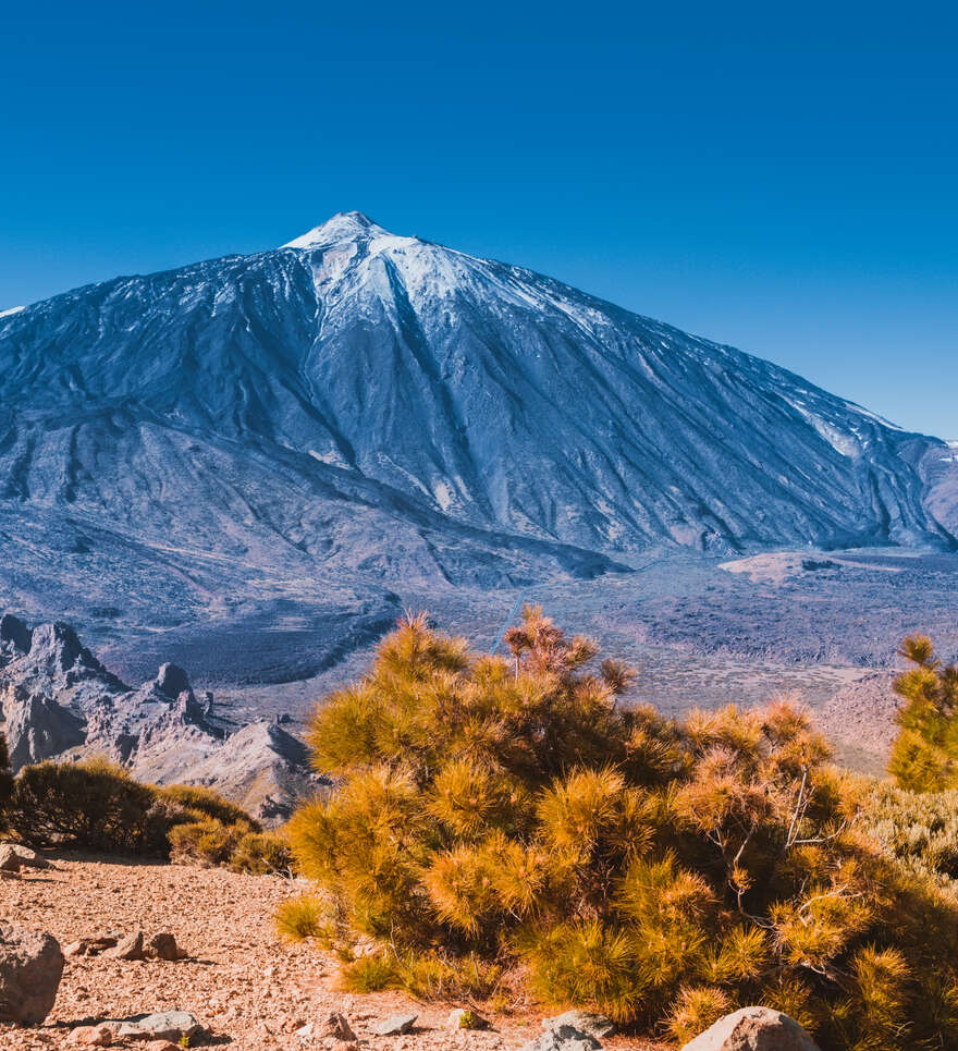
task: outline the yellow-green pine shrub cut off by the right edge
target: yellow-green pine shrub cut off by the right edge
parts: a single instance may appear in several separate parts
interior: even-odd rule
[[[888,770],[902,789],[958,787],[958,668],[943,667],[925,635],[906,638],[898,652],[913,667],[895,681],[905,705]]]

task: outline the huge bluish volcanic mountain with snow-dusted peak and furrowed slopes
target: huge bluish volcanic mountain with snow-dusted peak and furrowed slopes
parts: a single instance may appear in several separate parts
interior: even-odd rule
[[[593,578],[650,549],[954,549],[954,460],[767,362],[357,212],[0,316],[3,604],[285,626],[317,668],[410,588]]]

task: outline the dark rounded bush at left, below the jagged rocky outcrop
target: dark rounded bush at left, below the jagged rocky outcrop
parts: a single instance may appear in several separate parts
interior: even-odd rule
[[[25,767],[7,807],[25,843],[122,854],[164,856],[169,819],[151,786],[103,760]]]

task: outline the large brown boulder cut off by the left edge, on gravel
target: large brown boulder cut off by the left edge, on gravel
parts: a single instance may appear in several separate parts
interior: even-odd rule
[[[63,953],[52,934],[0,927],[0,1022],[39,1025],[62,977]]]

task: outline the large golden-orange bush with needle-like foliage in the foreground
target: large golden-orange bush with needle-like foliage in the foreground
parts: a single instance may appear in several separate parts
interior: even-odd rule
[[[678,1040],[764,1002],[828,1051],[958,1046],[958,907],[860,833],[801,711],[677,723],[541,610],[507,638],[513,661],[407,619],[314,717],[341,789],[288,834],[328,922],[372,939],[347,983],[426,994],[481,961]]]

